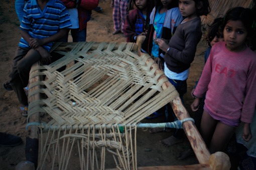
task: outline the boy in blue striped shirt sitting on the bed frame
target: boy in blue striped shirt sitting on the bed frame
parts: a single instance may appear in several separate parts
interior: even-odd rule
[[[53,42],[66,34],[71,26],[65,5],[59,0],[29,0],[24,7],[20,25],[21,40],[16,50],[10,80],[4,82],[7,90],[14,90],[21,103],[21,114],[28,115],[28,97],[24,87],[29,82],[33,63],[50,63]]]

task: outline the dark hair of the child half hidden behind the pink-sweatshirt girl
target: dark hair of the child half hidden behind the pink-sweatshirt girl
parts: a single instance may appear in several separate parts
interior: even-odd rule
[[[211,46],[211,41],[213,40],[213,38],[215,36],[223,37],[222,26],[223,26],[223,18],[222,17],[218,17],[218,18],[214,19],[212,24],[209,26],[208,31],[207,31],[207,37],[206,37],[209,46]]]

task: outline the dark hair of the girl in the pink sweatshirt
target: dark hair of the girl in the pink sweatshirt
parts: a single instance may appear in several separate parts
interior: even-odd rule
[[[243,23],[243,25],[246,27],[248,32],[247,34],[247,37],[249,38],[248,45],[252,47],[251,43],[255,36],[255,27],[256,27],[255,15],[253,11],[249,8],[244,8],[244,7],[234,7],[229,9],[226,15],[224,16],[223,29],[227,24],[227,22],[230,20],[240,20]]]

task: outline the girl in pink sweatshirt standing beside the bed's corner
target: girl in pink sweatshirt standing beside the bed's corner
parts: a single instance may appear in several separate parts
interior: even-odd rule
[[[251,138],[256,97],[256,53],[246,43],[255,35],[251,9],[235,7],[224,16],[224,42],[212,47],[193,95],[193,111],[206,93],[201,135],[209,151],[222,151],[240,121],[243,139]],[[247,43],[248,44],[248,43]]]

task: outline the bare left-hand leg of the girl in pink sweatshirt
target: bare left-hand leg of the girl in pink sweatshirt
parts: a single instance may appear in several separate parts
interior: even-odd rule
[[[212,118],[205,110],[203,111],[200,133],[207,146],[210,144],[217,122],[218,120]]]

